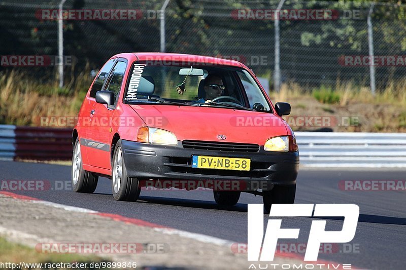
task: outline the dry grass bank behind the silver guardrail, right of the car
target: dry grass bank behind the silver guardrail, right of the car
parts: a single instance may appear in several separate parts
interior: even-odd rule
[[[406,79],[390,82],[382,91],[371,94],[368,87],[358,87],[351,82],[337,81],[332,93],[338,95],[336,103],[321,103],[312,95],[315,89],[303,89],[298,84],[283,84],[281,91],[272,92],[274,102],[285,101],[292,105],[291,116],[356,118],[358,125],[329,127],[334,131],[349,132],[406,132]],[[316,90],[317,91],[317,90]],[[323,91],[322,91],[323,93]],[[325,98],[323,100],[336,100]],[[292,127],[293,130],[314,130],[320,127]]]

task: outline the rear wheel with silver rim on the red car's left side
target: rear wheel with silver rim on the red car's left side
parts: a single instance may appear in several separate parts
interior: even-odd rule
[[[97,186],[98,176],[83,170],[82,151],[80,148],[79,139],[77,138],[72,157],[71,180],[73,190],[75,192],[93,193]]]

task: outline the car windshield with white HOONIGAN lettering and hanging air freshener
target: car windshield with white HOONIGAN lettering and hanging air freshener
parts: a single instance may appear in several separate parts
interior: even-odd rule
[[[132,64],[124,102],[270,111],[251,74],[239,67]]]

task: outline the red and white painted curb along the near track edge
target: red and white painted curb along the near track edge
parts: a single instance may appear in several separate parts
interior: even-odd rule
[[[63,209],[63,210],[66,210],[66,211],[88,213],[88,214],[98,215],[98,216],[105,217],[105,218],[111,218],[111,219],[113,219],[115,221],[118,221],[118,222],[124,222],[124,223],[133,224],[133,225],[137,225],[137,226],[150,227],[150,228],[154,229],[156,232],[159,232],[161,234],[177,235],[179,237],[189,238],[189,239],[199,241],[199,242],[202,242],[202,243],[225,246],[225,247],[228,247],[230,249],[230,252],[231,252],[232,246],[235,245],[234,242],[231,242],[231,241],[228,241],[228,240],[224,240],[224,239],[220,239],[220,238],[212,237],[212,236],[207,236],[207,235],[203,235],[203,234],[190,233],[190,232],[186,232],[185,230],[180,230],[180,229],[167,227],[167,226],[164,226],[164,225],[159,225],[159,224],[152,223],[152,222],[149,222],[149,221],[145,221],[145,220],[142,220],[142,219],[130,218],[130,217],[125,217],[125,216],[121,216],[121,215],[117,215],[117,214],[98,212],[98,211],[94,211],[94,210],[90,210],[90,209],[86,209],[86,208],[81,208],[81,207],[75,207],[75,206],[69,206],[69,205],[63,205],[63,204],[47,202],[47,201],[43,201],[43,200],[40,200],[40,199],[37,199],[37,198],[32,198],[32,197],[28,197],[28,196],[24,196],[24,195],[15,194],[15,193],[12,193],[12,192],[9,192],[9,191],[0,191],[0,195],[4,195],[4,196],[7,196],[7,197],[12,197],[12,198],[17,199],[17,200],[30,201],[30,202],[35,203],[35,204],[42,204],[42,205],[46,205],[46,206],[50,206],[50,207],[54,207],[54,208],[59,208],[59,209]],[[295,260],[303,261],[303,256],[301,256],[299,254],[294,254],[294,253],[280,253],[280,252],[277,252],[275,254],[275,257],[285,258],[285,259],[295,259]],[[334,269],[344,269],[342,267],[343,264],[336,263],[336,262],[333,262],[333,261],[317,260],[317,261],[312,261],[311,264],[314,264],[314,265],[316,265],[316,264],[325,264],[325,265],[326,264],[329,264],[329,265],[334,264],[334,265],[340,265],[338,268],[334,268]],[[359,269],[359,268],[355,268],[355,267],[352,266],[351,269]]]

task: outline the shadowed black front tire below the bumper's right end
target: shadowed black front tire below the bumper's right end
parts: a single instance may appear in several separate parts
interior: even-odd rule
[[[272,190],[262,191],[262,201],[265,213],[269,213],[272,204],[293,204],[296,195],[296,184],[275,185]]]

